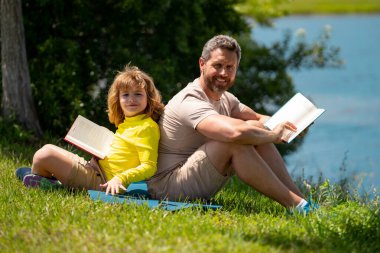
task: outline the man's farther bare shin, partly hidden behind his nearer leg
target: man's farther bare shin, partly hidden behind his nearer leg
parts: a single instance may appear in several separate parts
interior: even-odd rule
[[[268,164],[268,166],[272,169],[274,174],[280,179],[280,181],[288,187],[292,192],[297,194],[298,196],[304,198],[301,191],[294,184],[293,179],[290,177],[289,172],[286,168],[284,159],[281,154],[278,152],[277,148],[274,144],[262,144],[256,146],[256,151],[259,155],[264,159],[264,161]]]

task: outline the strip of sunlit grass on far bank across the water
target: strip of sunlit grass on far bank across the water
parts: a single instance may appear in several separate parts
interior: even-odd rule
[[[348,14],[380,12],[379,0],[291,0],[281,5],[289,14]]]

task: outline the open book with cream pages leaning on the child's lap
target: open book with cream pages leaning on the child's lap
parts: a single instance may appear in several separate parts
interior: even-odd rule
[[[114,133],[78,115],[64,140],[100,159],[106,157]]]

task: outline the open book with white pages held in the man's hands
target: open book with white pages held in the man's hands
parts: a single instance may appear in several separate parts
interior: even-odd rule
[[[293,123],[297,127],[297,132],[289,130],[287,138],[284,140],[289,143],[312,124],[324,111],[325,109],[317,108],[304,95],[297,93],[265,122],[264,126],[273,130],[278,124],[285,121]]]

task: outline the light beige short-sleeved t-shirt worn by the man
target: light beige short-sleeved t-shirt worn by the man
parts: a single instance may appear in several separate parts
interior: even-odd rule
[[[189,83],[169,101],[161,115],[156,175],[173,170],[184,163],[195,150],[208,141],[204,135],[196,131],[199,122],[210,115],[233,117],[244,107],[245,105],[229,92],[224,92],[219,101],[212,101],[201,88],[199,79]]]

